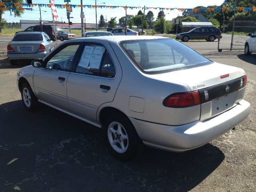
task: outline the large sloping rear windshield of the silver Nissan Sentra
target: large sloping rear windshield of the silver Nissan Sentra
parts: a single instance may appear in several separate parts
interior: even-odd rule
[[[129,40],[120,45],[146,74],[160,74],[211,64],[212,61],[184,44],[170,39]]]

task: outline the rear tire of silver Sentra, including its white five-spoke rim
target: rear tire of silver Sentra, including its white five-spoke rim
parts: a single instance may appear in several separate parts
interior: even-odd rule
[[[130,120],[118,113],[107,116],[104,122],[104,137],[110,152],[122,161],[134,158],[143,146]]]

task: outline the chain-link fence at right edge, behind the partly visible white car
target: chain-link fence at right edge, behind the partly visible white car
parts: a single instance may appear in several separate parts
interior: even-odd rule
[[[234,24],[234,29],[233,29]],[[256,21],[223,21],[222,38],[218,40],[218,50],[244,49],[248,33],[256,31]]]

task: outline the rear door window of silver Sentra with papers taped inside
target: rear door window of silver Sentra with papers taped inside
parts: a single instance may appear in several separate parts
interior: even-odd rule
[[[116,70],[104,46],[86,45],[76,67],[76,73],[114,78]]]

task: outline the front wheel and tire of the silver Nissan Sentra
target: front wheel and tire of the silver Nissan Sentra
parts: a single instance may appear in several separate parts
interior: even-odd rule
[[[26,110],[34,111],[38,108],[38,99],[28,83],[23,83],[21,86],[21,98]]]

